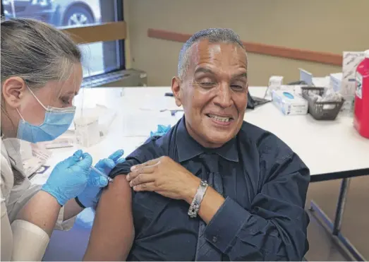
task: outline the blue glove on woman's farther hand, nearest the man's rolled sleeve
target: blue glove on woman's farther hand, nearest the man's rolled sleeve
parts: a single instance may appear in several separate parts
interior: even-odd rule
[[[123,150],[117,150],[108,158],[99,160],[95,167],[104,174],[109,175],[111,169],[113,169],[117,164],[125,161],[124,158],[121,158],[123,154]],[[109,181],[106,177],[102,177],[94,170],[91,170],[85,190],[83,190],[83,192],[80,193],[75,200],[82,204],[82,206],[85,208],[95,208],[97,202],[99,202],[100,191],[103,187],[107,186],[108,182]]]

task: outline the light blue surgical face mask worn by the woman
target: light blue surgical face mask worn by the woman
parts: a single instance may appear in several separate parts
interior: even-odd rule
[[[30,90],[30,88],[28,89]],[[42,105],[42,102],[38,100],[32,90],[30,92],[37,102]],[[45,109],[45,118],[44,123],[40,124],[40,126],[35,126],[25,121],[17,109],[18,114],[22,118],[19,121],[17,138],[30,143],[52,141],[68,130],[74,118],[75,107],[56,108],[45,107],[44,105],[42,107]]]

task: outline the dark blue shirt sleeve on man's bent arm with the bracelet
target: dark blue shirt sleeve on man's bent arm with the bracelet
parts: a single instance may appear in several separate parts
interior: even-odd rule
[[[228,197],[207,225],[207,241],[231,261],[301,261],[308,250],[309,170],[294,153],[272,170],[250,210]]]

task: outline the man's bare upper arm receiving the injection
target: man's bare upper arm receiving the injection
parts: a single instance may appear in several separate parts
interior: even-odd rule
[[[131,187],[119,175],[102,193],[83,261],[124,261],[133,238]]]

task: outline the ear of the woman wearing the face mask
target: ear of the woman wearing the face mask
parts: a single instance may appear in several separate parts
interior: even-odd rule
[[[26,90],[25,81],[20,77],[11,77],[4,81],[1,88],[1,93],[4,97],[6,105],[16,109],[20,106],[20,100],[25,95]]]

